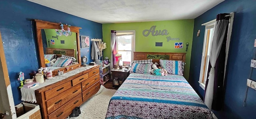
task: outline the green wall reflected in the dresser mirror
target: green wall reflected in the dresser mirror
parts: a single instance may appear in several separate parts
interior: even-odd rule
[[[56,49],[75,49],[75,58],[77,59],[77,47],[76,47],[76,33],[70,32],[71,35],[65,36],[61,35],[56,37],[55,29],[44,29],[45,36],[46,36],[46,43],[48,48],[56,48]],[[55,41],[55,45],[52,45],[51,42],[48,42],[48,39],[53,39]],[[60,41],[64,41],[64,44]],[[50,44],[49,44],[50,43]]]

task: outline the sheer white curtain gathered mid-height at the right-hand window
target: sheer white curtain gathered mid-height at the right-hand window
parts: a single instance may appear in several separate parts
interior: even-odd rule
[[[223,41],[226,40],[226,28],[228,27],[229,20],[221,19],[226,14],[218,14],[215,23],[214,35],[212,40],[212,50],[210,51],[210,64],[212,66],[208,77],[208,84],[206,86],[204,103],[209,109],[212,109],[212,101],[214,97],[214,80],[215,80],[215,65],[219,57],[220,49]]]

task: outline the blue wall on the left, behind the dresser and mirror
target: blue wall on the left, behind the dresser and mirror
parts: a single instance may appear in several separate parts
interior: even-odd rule
[[[72,16],[26,0],[0,0],[0,16],[0,31],[15,105],[21,102],[18,89],[20,82],[17,80],[18,72],[24,72],[26,79],[30,78],[28,74],[32,70],[39,68],[36,36],[31,19],[62,22],[82,27],[80,35],[102,38],[101,23]],[[90,48],[80,49],[80,51],[81,57],[86,55],[88,62],[92,61],[90,60]]]

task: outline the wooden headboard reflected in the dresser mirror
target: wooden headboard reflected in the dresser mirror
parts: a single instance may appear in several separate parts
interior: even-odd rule
[[[56,57],[61,57],[61,55],[75,57],[75,49],[46,48],[46,54],[55,54]]]

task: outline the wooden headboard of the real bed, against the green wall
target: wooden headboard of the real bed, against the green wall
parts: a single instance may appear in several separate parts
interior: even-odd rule
[[[152,59],[152,62],[159,63],[163,60],[182,60],[185,62],[186,53],[160,53],[160,52],[134,52],[133,60],[147,60]]]

